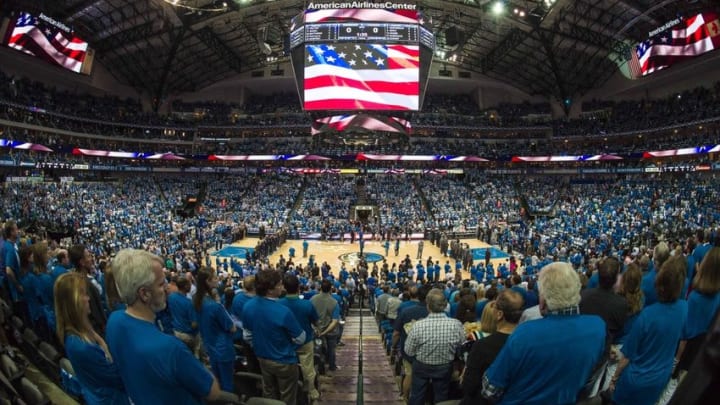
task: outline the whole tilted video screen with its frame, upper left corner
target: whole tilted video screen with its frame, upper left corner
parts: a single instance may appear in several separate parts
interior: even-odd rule
[[[74,31],[45,14],[17,13],[3,26],[3,45],[75,73],[90,74],[92,51]]]

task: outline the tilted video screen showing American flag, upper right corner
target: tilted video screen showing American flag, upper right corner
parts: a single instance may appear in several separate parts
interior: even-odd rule
[[[631,55],[633,77],[646,76],[720,48],[720,21],[715,13],[702,13],[639,43]]]

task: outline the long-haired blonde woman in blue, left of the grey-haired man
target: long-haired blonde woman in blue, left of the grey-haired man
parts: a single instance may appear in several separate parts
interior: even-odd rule
[[[57,335],[65,346],[88,405],[129,404],[107,344],[90,324],[90,297],[82,275],[66,273],[55,282]]]

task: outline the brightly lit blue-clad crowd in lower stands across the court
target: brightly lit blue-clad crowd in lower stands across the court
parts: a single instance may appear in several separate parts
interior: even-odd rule
[[[570,250],[605,252],[647,244],[657,235],[680,238],[720,223],[720,192],[713,179],[689,173],[517,182],[478,173],[468,173],[465,179],[428,175],[411,181],[405,175],[374,175],[367,177],[366,187],[370,201],[378,205],[380,227],[476,231],[504,249],[566,257]],[[358,198],[355,187],[351,176],[302,179],[291,174],[11,183],[3,206],[8,218],[74,232],[92,252],[130,245],[173,255],[186,249],[203,253],[218,239],[227,242],[230,229],[241,225],[249,232],[262,228],[268,234],[285,228],[291,236],[349,232],[349,208]],[[201,189],[206,196],[198,219],[172,215],[185,197]],[[527,215],[521,210],[523,198]],[[302,203],[294,209],[298,199]],[[188,245],[190,236],[207,243]]]

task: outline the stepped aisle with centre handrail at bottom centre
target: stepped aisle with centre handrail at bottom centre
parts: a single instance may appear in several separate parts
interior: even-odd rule
[[[336,351],[340,370],[329,372],[331,377],[321,379],[320,402],[338,405],[404,404],[377,323],[368,309],[362,312],[350,309],[342,341],[345,346],[339,346]],[[358,384],[360,376],[362,382]]]

